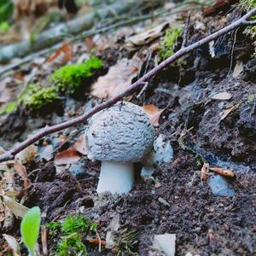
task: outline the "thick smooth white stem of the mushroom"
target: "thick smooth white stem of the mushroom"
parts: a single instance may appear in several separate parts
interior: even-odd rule
[[[97,193],[127,194],[134,183],[133,163],[102,161]]]

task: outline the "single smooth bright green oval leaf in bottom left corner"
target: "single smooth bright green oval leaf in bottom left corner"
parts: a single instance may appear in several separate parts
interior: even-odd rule
[[[35,247],[41,224],[41,211],[39,207],[32,207],[22,218],[20,232],[30,256],[35,256]]]

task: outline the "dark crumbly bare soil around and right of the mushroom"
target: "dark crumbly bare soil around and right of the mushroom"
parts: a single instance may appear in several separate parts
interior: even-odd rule
[[[222,44],[232,47],[232,35],[221,42],[218,49]],[[84,156],[79,162],[82,172],[74,176],[68,170],[56,174],[53,162],[36,161],[27,166],[28,172],[38,172],[32,176],[26,206],[39,206],[46,216],[44,222],[83,212],[98,222],[103,238],[110,220],[119,214],[121,230],[138,231],[136,253],[142,256],[151,250],[154,235],[164,233],[177,234],[177,255],[255,255],[255,60],[250,58],[249,38],[240,31],[237,42],[232,63],[231,48],[212,58],[204,47],[184,59],[181,79],[179,67],[167,68],[149,83],[146,95],[139,100],[133,98],[140,105],[150,103],[165,108],[156,134],[172,141],[172,164],[156,167],[153,177],[137,175],[136,186],[129,195],[101,198],[96,195],[100,163]],[[103,59],[113,65],[117,56],[111,59],[110,53],[108,49]],[[243,61],[244,69],[233,78],[236,61]],[[231,94],[230,100],[210,99],[223,91]],[[234,106],[221,119],[224,111]],[[24,136],[26,119],[19,113],[9,116],[1,134],[12,131],[9,141],[15,142]],[[38,127],[41,125],[45,123]],[[68,135],[73,129],[64,132]],[[181,140],[182,131],[186,132]],[[218,163],[218,167],[225,167],[221,166],[223,160],[230,163],[236,172],[236,178],[229,181],[236,192],[234,196],[213,195],[207,183],[201,183],[202,163],[198,165],[196,154],[212,166]],[[207,158],[210,154],[214,158]],[[55,241],[49,240],[51,252],[54,246]],[[96,249],[90,246],[91,255],[96,255]],[[111,254],[107,249],[102,252]]]

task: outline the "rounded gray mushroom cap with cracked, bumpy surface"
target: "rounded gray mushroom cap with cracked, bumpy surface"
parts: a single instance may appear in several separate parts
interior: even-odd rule
[[[85,131],[88,158],[137,162],[153,148],[154,129],[147,113],[130,102],[118,102],[90,119]]]

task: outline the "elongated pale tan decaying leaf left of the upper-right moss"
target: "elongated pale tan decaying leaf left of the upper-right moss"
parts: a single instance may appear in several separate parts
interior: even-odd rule
[[[138,46],[143,44],[148,44],[152,42],[154,39],[159,38],[162,36],[164,29],[169,26],[169,22],[165,22],[160,24],[159,26],[155,26],[154,28],[142,32],[136,36],[132,36],[126,39],[126,43],[128,47],[131,46]]]

